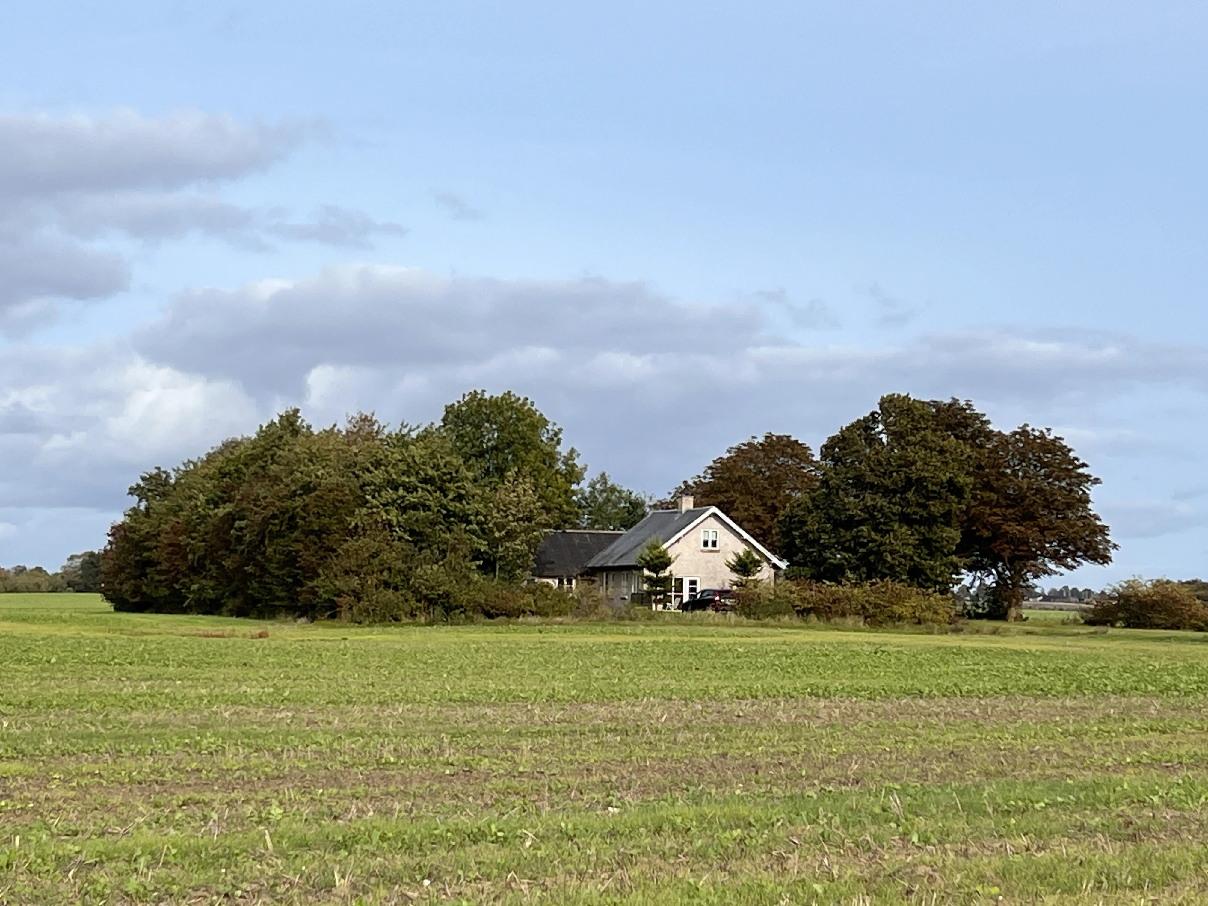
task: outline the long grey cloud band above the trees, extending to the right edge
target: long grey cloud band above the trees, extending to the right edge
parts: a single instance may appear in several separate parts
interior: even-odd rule
[[[453,373],[506,362],[541,362],[559,382],[582,374],[608,385],[674,385],[698,370],[698,385],[757,390],[790,408],[840,387],[873,400],[898,389],[1022,403],[1085,402],[1162,382],[1208,389],[1200,347],[968,331],[888,348],[813,348],[768,333],[753,303],[685,304],[644,284],[602,279],[447,279],[378,266],[188,292],[134,343],[157,361],[239,381],[257,395],[297,394],[316,365]]]

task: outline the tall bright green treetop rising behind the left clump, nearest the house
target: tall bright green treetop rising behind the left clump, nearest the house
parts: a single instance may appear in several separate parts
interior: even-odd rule
[[[550,525],[579,523],[576,489],[585,471],[579,453],[562,451],[562,429],[528,397],[474,390],[445,407],[440,430],[487,488],[527,475]]]

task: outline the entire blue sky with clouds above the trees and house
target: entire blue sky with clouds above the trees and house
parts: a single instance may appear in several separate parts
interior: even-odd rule
[[[204,8],[201,8],[203,7]],[[664,494],[885,393],[1050,426],[1208,577],[1208,7],[0,7],[0,564],[289,406],[530,396]]]

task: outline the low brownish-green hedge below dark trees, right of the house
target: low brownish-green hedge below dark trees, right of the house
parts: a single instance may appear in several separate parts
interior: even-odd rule
[[[769,598],[782,599],[798,616],[818,620],[860,618],[870,626],[883,623],[951,623],[956,618],[952,597],[883,579],[875,582],[837,583],[797,579],[779,582]],[[762,606],[776,611],[771,602]],[[749,608],[754,610],[754,608]]]

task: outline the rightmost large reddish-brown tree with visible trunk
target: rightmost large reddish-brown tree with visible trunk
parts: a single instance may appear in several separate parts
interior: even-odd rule
[[[1111,562],[1116,545],[1091,509],[1099,480],[1063,439],[1021,425],[977,437],[972,451],[957,553],[966,570],[993,577],[978,616],[1021,618],[1023,594],[1036,579]]]

